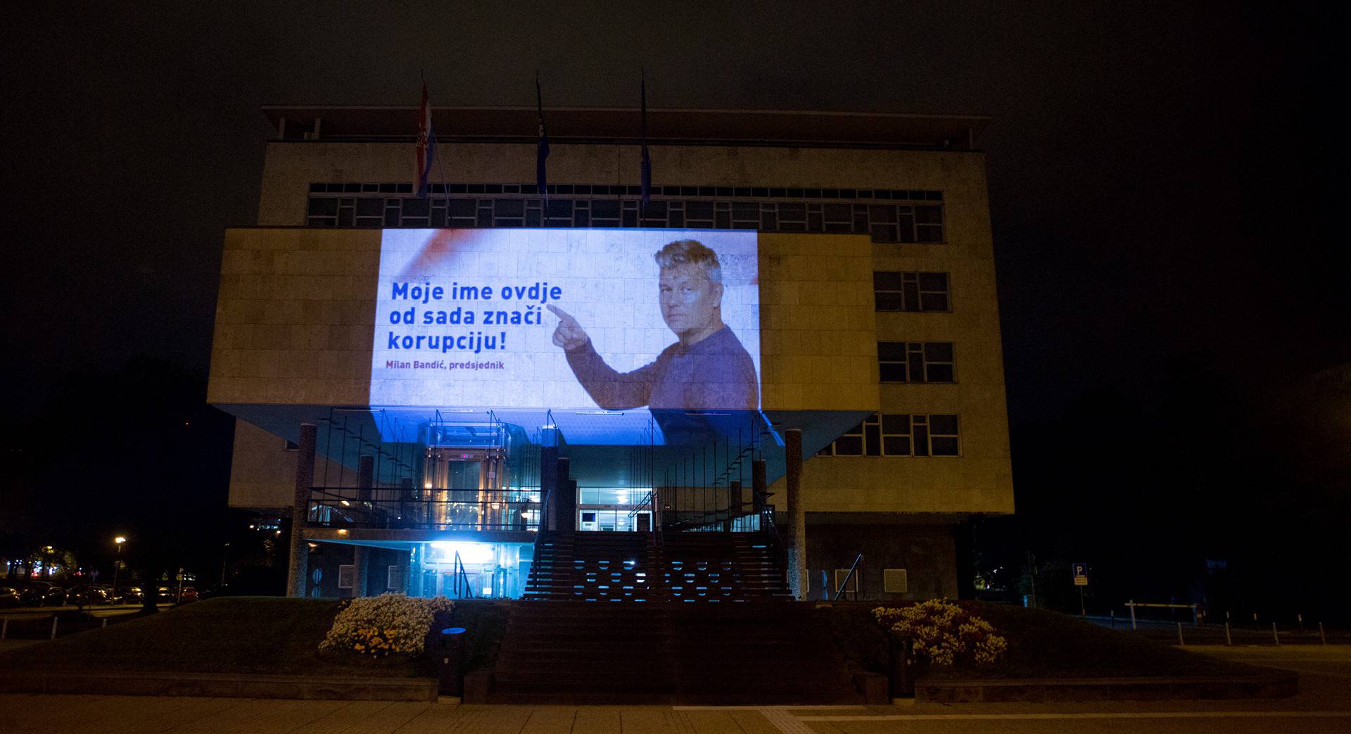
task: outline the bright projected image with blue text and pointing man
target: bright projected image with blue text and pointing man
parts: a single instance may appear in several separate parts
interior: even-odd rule
[[[372,406],[759,408],[755,233],[386,230]]]

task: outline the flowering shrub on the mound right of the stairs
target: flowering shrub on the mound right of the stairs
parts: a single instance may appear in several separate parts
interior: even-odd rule
[[[951,602],[877,607],[873,616],[882,627],[911,638],[915,657],[932,665],[989,665],[1008,649],[1008,641],[994,634],[989,622]]]

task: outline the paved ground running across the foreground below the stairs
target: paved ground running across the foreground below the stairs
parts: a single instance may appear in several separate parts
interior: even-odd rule
[[[1351,733],[1351,646],[1202,649],[1301,672],[1275,700],[873,707],[459,706],[438,703],[0,696],[19,734],[1286,734]]]

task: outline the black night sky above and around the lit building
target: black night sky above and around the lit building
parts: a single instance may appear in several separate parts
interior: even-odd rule
[[[1351,361],[1328,262],[1328,11],[1270,3],[28,8],[4,31],[7,403],[81,364],[205,370],[267,103],[988,114],[1015,424],[1179,353],[1243,389]],[[800,9],[794,9],[800,8]],[[412,131],[412,130],[409,130]],[[454,165],[454,162],[449,162]],[[662,172],[654,172],[661,182]]]

